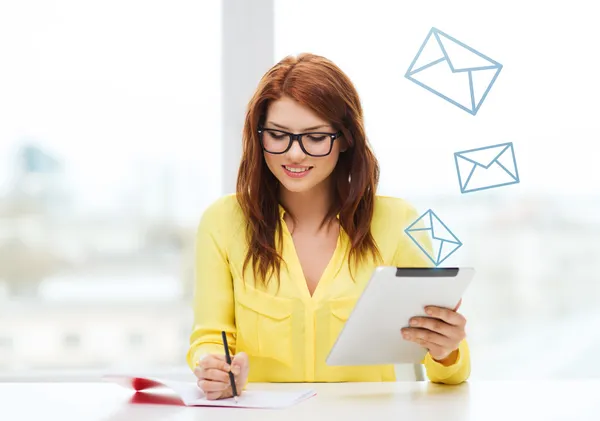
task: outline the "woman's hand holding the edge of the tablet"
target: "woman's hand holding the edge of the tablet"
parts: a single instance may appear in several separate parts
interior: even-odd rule
[[[467,319],[456,311],[443,307],[428,306],[425,312],[429,317],[413,317],[410,326],[402,329],[404,339],[416,342],[427,348],[431,357],[436,361],[447,359],[458,349],[460,342],[466,337],[465,325]]]

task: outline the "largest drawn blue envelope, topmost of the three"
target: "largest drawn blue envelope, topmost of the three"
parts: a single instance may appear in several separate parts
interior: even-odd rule
[[[501,70],[497,61],[431,28],[404,77],[476,115]]]

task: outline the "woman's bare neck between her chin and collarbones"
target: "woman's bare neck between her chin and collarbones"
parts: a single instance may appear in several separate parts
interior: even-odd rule
[[[333,186],[323,182],[306,192],[292,192],[281,188],[279,200],[294,216],[297,228],[316,230],[327,215],[333,201]]]

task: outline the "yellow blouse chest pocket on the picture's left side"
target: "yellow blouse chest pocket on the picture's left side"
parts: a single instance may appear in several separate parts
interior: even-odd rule
[[[246,286],[236,301],[238,352],[291,365],[292,300]]]

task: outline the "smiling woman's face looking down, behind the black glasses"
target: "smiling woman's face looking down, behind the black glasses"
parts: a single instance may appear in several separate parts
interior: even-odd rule
[[[264,128],[296,134],[307,132],[335,133],[334,128],[327,121],[319,118],[309,108],[285,96],[269,105]],[[265,140],[276,145],[273,147],[281,148],[280,145],[285,144],[287,146],[289,136],[280,136],[280,133],[277,132],[265,132],[263,141]],[[325,182],[333,172],[340,154],[341,140],[338,138],[333,141],[333,148],[327,156],[313,157],[307,155],[300,148],[298,142],[294,141],[292,147],[286,153],[271,154],[265,151],[264,157],[267,166],[284,188],[291,192],[308,192],[315,186]],[[302,141],[305,147],[311,148],[309,152],[313,154],[322,150],[327,152],[331,144],[328,136],[313,136],[312,138],[303,136]],[[308,145],[309,143],[311,145]]]

